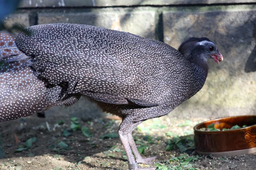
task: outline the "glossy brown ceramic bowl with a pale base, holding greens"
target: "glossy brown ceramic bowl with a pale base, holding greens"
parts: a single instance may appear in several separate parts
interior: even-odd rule
[[[221,131],[202,131],[212,123]],[[234,125],[247,127],[230,129]],[[195,147],[199,154],[213,156],[235,156],[256,152],[256,116],[232,116],[213,119],[194,127]]]

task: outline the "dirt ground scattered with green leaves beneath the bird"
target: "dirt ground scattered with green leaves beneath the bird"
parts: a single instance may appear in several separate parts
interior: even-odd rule
[[[158,161],[184,154],[193,158],[189,166],[182,167],[177,161],[167,161],[172,167],[168,170],[255,170],[256,154],[217,158],[196,155],[191,148],[166,151],[174,136],[179,139],[189,135],[191,142],[192,127],[205,120],[164,116],[144,122],[133,136],[144,156],[157,156]],[[119,123],[120,120],[102,117],[88,121],[51,115],[1,123],[0,170],[127,170],[127,159],[116,136]],[[15,142],[15,134],[20,143]]]

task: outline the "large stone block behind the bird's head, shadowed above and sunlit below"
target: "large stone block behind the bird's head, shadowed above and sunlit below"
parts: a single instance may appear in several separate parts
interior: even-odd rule
[[[207,37],[224,57],[220,65],[209,59],[204,88],[178,111],[185,111],[182,108],[186,106],[202,111],[201,116],[217,117],[252,114],[256,110],[255,10],[166,11],[163,30],[164,41],[175,48],[188,37]]]

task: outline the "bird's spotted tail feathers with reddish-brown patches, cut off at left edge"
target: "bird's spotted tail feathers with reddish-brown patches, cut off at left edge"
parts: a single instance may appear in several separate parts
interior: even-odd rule
[[[15,35],[0,32],[0,122],[47,110],[45,83],[30,67],[32,59],[15,45]]]

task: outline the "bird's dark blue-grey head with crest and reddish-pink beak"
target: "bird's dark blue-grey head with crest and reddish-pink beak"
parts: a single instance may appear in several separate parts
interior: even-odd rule
[[[198,60],[206,62],[207,58],[214,59],[217,63],[223,60],[223,57],[215,44],[205,37],[188,38],[181,43],[178,51],[180,51],[180,53],[190,62],[197,62]]]

